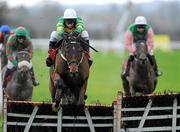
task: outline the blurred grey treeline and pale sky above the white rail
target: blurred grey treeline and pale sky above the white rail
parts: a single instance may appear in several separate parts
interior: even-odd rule
[[[66,8],[74,8],[91,39],[120,37],[138,15],[144,15],[156,34],[180,40],[179,0],[0,0],[0,25],[27,27],[33,38],[49,38]]]

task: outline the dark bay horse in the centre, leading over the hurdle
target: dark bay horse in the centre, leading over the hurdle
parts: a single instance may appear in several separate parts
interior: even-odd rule
[[[80,39],[72,34],[64,38],[56,55],[55,68],[50,68],[49,89],[56,107],[59,104],[85,103],[89,64]]]

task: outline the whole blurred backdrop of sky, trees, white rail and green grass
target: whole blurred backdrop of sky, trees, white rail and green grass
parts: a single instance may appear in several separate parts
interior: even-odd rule
[[[41,81],[40,88],[34,92],[42,94],[42,99],[34,96],[34,100],[49,99],[48,92],[47,96],[41,92],[48,89],[48,68],[43,71],[45,75],[41,71],[46,67],[44,60],[50,33],[56,30],[58,18],[66,8],[74,8],[83,18],[90,44],[100,51],[92,52],[94,64],[88,85],[89,103],[110,103],[117,91],[123,90],[120,71],[127,58],[123,37],[128,25],[139,15],[147,18],[155,32],[155,54],[164,73],[156,92],[179,91],[180,0],[0,0],[0,25],[8,24],[12,29],[25,26],[33,38],[35,72]]]

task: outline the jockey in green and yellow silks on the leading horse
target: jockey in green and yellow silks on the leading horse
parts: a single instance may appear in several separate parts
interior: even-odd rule
[[[57,53],[57,48],[60,45],[56,45],[58,41],[62,42],[63,37],[65,37],[66,33],[72,33],[74,36],[81,37],[89,44],[89,35],[88,32],[84,30],[84,22],[83,20],[77,16],[76,11],[74,9],[66,9],[64,11],[64,16],[59,18],[57,23],[57,30],[53,31],[50,36],[49,41],[49,56],[46,59],[46,65],[50,67],[54,64],[55,56]],[[89,65],[92,65],[92,59],[89,54],[89,47],[86,45],[82,45],[82,48],[85,52],[86,57],[88,58]]]

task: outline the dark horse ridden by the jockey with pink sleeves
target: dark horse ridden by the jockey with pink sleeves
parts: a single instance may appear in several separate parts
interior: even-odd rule
[[[155,90],[157,77],[148,57],[146,41],[139,40],[135,46],[135,58],[130,65],[129,76],[121,75],[125,94],[150,94]]]

